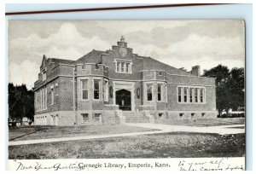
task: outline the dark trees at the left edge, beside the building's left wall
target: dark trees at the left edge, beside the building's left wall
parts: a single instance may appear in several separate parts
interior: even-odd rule
[[[26,84],[9,83],[9,119],[21,121],[23,117],[33,120],[34,95],[26,89]]]

